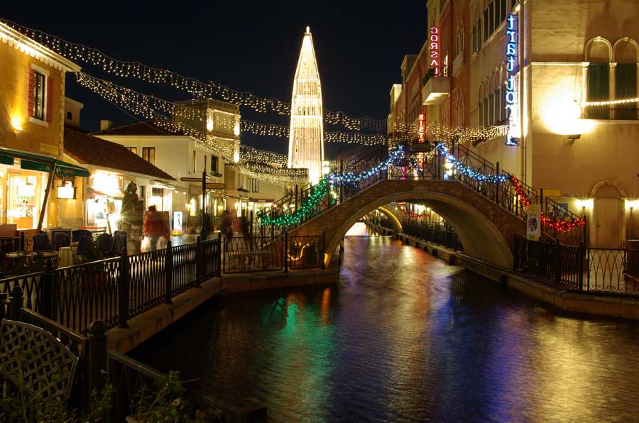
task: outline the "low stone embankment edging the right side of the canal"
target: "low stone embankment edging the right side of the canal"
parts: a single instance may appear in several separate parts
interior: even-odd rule
[[[517,290],[562,312],[639,319],[639,300],[615,295],[597,295],[562,290],[542,278],[535,278],[510,269],[500,268],[415,236],[395,233],[395,231],[381,226],[373,226],[373,228],[380,234],[393,235],[407,245],[421,248],[433,256],[447,260],[449,263],[460,265],[478,275],[484,276],[484,278],[499,282],[503,286]]]

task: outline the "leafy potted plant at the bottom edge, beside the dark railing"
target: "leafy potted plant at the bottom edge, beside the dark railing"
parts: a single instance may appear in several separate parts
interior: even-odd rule
[[[133,414],[126,417],[127,423],[217,423],[222,422],[220,410],[195,410],[184,399],[185,390],[179,380],[179,373],[171,371],[151,390],[143,386],[138,392],[138,400],[133,405]]]

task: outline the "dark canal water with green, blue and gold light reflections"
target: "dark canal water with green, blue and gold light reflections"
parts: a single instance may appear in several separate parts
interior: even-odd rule
[[[339,285],[228,295],[132,356],[271,422],[639,421],[638,324],[557,314],[360,233]]]

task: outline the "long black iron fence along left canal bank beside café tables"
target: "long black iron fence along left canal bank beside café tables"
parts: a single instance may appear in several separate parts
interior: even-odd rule
[[[67,328],[87,334],[91,322],[107,329],[126,321],[201,282],[221,275],[220,239],[162,250],[53,268],[0,280],[0,294],[14,286],[24,292],[23,307]]]

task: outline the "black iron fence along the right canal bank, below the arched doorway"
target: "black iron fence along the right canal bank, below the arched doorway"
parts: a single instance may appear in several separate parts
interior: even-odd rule
[[[567,290],[639,295],[639,250],[515,239],[515,269]]]

